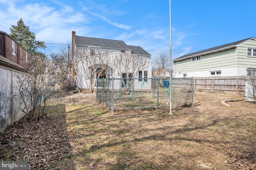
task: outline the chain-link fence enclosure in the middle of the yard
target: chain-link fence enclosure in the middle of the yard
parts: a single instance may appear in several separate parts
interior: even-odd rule
[[[170,107],[170,78],[97,79],[97,100],[115,109]],[[194,78],[172,78],[172,108],[193,107]]]

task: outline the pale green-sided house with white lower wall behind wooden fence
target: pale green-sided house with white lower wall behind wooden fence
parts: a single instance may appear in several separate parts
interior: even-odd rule
[[[246,76],[256,72],[256,39],[243,39],[195,53],[174,62],[174,77]]]

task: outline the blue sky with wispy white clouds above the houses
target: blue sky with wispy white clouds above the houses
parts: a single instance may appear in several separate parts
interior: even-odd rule
[[[256,37],[256,0],[172,0],[172,59]],[[46,55],[60,53],[76,35],[122,40],[154,60],[169,56],[169,0],[0,0],[0,30],[22,18]]]

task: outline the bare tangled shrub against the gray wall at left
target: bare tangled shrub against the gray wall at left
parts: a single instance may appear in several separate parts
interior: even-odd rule
[[[46,106],[54,94],[58,75],[51,61],[41,54],[33,58],[30,68],[18,76],[17,95],[21,98],[22,111],[27,119],[46,116]]]

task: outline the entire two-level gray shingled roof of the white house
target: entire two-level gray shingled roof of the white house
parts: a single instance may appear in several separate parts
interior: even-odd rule
[[[124,41],[113,39],[102,39],[92,37],[75,36],[75,43],[77,45],[90,45],[98,47],[107,47],[114,49],[130,49],[133,54],[150,55],[147,51],[138,46],[127,45]]]

